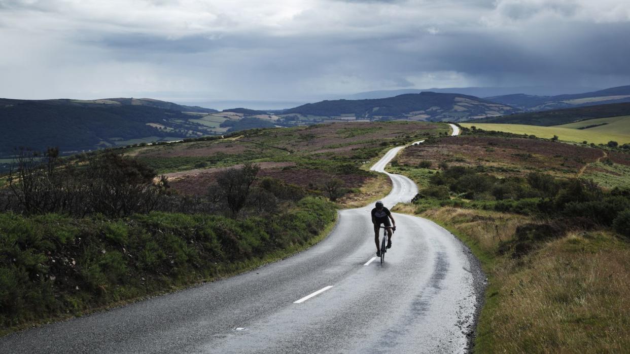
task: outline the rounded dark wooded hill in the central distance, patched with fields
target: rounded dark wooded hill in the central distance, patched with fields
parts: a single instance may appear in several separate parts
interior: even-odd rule
[[[515,109],[462,94],[421,92],[384,99],[322,101],[285,110],[281,116],[295,119],[410,119],[462,121],[513,113]]]

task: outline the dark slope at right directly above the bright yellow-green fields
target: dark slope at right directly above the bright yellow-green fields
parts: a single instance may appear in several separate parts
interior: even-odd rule
[[[624,116],[627,114],[630,114],[630,103],[616,103],[481,118],[471,120],[468,123],[507,123],[551,126],[573,123],[585,119]]]

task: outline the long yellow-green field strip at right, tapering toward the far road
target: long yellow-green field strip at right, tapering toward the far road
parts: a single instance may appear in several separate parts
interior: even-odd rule
[[[604,118],[610,119],[610,118]],[[589,119],[588,122],[597,121],[599,119]],[[587,122],[587,121],[585,121]],[[584,123],[585,123],[584,122]],[[578,122],[583,123],[583,122]],[[571,124],[578,124],[571,123]],[[586,125],[596,124],[596,123],[588,123]],[[491,124],[491,123],[462,123],[462,126],[465,128],[471,128],[471,126],[476,126],[479,129],[483,130],[496,130],[496,131],[505,131],[507,133],[514,134],[527,134],[527,135],[536,135],[539,138],[553,138],[554,135],[557,135],[559,140],[563,141],[573,141],[575,143],[581,143],[582,141],[588,141],[588,143],[596,143],[596,144],[605,144],[609,141],[617,141],[619,144],[630,143],[630,133],[625,133],[625,131],[630,130],[629,128],[625,128],[624,130],[614,130],[615,133],[610,131],[597,131],[593,130],[595,128],[589,128],[585,130],[578,130],[576,128],[562,128],[561,126],[536,126],[536,125],[523,125],[523,124]],[[601,126],[602,128],[608,126]],[[600,127],[596,127],[600,128]]]

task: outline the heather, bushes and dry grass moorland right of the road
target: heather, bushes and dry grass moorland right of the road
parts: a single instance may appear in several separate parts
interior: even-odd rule
[[[622,171],[630,154],[464,133],[409,147],[390,170],[420,186],[413,203],[395,210],[449,228],[483,263],[489,285],[476,350],[623,351],[630,345],[630,175]]]

